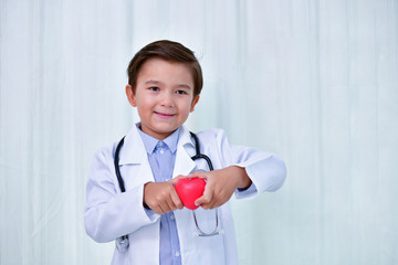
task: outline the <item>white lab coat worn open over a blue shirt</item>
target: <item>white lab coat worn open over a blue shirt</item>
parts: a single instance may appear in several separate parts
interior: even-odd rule
[[[275,191],[284,182],[286,170],[283,161],[272,153],[254,148],[230,146],[220,129],[197,134],[201,153],[210,157],[214,169],[231,165],[244,167],[253,184],[254,192],[237,191],[237,198],[254,197],[263,191]],[[87,182],[85,229],[96,242],[109,242],[128,234],[129,247],[122,253],[115,248],[112,264],[159,264],[160,215],[148,216],[143,206],[144,184],[155,181],[147,153],[137,130],[133,126],[125,138],[119,153],[121,174],[126,192],[121,193],[114,168],[117,142],[101,149],[93,161]],[[189,131],[180,130],[177,146],[174,177],[187,176],[192,171],[208,170],[203,159],[196,161],[195,142]],[[214,227],[214,210],[198,209],[198,221],[205,232]],[[223,235],[196,237],[196,226],[191,210],[175,211],[180,255],[184,265],[189,264],[238,264],[235,236],[229,203],[219,208],[220,226]]]

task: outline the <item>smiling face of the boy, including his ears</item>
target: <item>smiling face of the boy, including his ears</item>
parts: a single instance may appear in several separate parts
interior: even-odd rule
[[[193,112],[192,74],[182,63],[154,57],[139,70],[135,94],[127,85],[126,94],[137,107],[142,130],[156,139],[165,139],[180,127]]]

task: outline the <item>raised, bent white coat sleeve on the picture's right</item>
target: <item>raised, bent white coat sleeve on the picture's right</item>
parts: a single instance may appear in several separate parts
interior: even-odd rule
[[[229,145],[223,130],[218,130],[217,139],[226,166],[244,168],[252,181],[248,190],[237,190],[238,199],[255,197],[264,191],[276,191],[282,187],[286,178],[286,167],[275,155],[252,147]]]

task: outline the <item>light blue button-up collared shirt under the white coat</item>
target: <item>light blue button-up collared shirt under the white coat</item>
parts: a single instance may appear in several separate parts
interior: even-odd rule
[[[148,155],[149,165],[156,182],[168,181],[172,178],[176,161],[177,142],[180,128],[166,139],[159,141],[138,129]],[[154,214],[150,210],[148,214]],[[160,265],[180,265],[180,245],[174,212],[160,216]]]

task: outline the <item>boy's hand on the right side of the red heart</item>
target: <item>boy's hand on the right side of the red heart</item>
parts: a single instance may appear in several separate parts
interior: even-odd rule
[[[195,204],[203,209],[214,209],[224,204],[233,194],[237,188],[245,189],[251,184],[251,180],[244,168],[232,166],[213,171],[197,171],[188,176],[207,179],[205,193]]]

